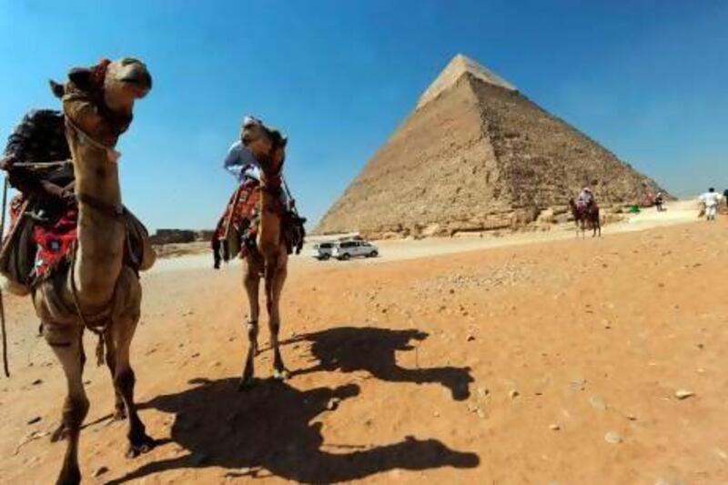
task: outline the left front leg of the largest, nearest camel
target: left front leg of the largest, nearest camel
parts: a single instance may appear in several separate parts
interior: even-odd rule
[[[61,428],[54,433],[56,440],[61,437],[66,438],[66,455],[56,483],[77,484],[81,482],[81,470],[78,469],[78,439],[89,407],[82,378],[84,357],[81,336],[83,328],[49,323],[43,326],[43,330],[45,340],[63,367],[68,385]]]

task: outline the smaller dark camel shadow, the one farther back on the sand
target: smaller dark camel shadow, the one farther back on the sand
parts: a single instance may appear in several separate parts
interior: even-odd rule
[[[294,375],[365,370],[373,377],[388,382],[438,383],[450,389],[452,399],[468,399],[470,383],[473,381],[469,368],[407,369],[397,364],[396,351],[413,350],[415,347],[410,342],[427,337],[426,332],[415,328],[338,327],[302,335],[283,343],[308,341],[311,343],[311,354],[319,360],[311,368],[294,371]],[[413,356],[412,360],[416,357]]]

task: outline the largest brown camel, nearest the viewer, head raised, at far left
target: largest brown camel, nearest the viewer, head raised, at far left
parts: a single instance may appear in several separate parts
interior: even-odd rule
[[[103,61],[92,68],[76,68],[68,82],[51,82],[66,114],[66,139],[76,173],[78,241],[66,270],[40,283],[33,294],[35,312],[43,323],[45,340],[66,374],[68,395],[61,425],[52,440],[66,438],[66,455],[58,483],[79,483],[78,439],[89,402],[82,380],[86,357],[86,327],[99,334],[101,355],[116,393],[116,418],[128,416],[127,456],[154,445],[136,413],[134,371],[129,346],[139,319],[142,291],[136,273],[124,265],[126,213],[121,205],[117,158],[118,136],[129,126],[136,99],[151,89],[147,66],[136,59]],[[154,264],[147,246],[141,269]],[[97,357],[101,358],[97,354]]]

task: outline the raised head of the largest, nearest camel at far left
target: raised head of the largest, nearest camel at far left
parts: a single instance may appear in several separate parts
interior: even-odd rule
[[[112,147],[131,123],[136,99],[147,96],[152,88],[152,76],[143,62],[123,57],[75,67],[65,84],[50,83],[63,101],[67,118],[88,136]]]

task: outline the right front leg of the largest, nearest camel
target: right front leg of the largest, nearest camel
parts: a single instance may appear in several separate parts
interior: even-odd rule
[[[138,314],[132,318],[121,317],[112,322],[110,328],[116,357],[114,387],[124,401],[126,416],[129,419],[129,430],[126,433],[126,438],[129,440],[129,447],[126,451],[127,458],[135,458],[140,453],[146,453],[155,445],[155,441],[147,435],[144,423],[139,419],[136,402],[134,401],[136,376],[129,362],[129,349],[138,320]]]

